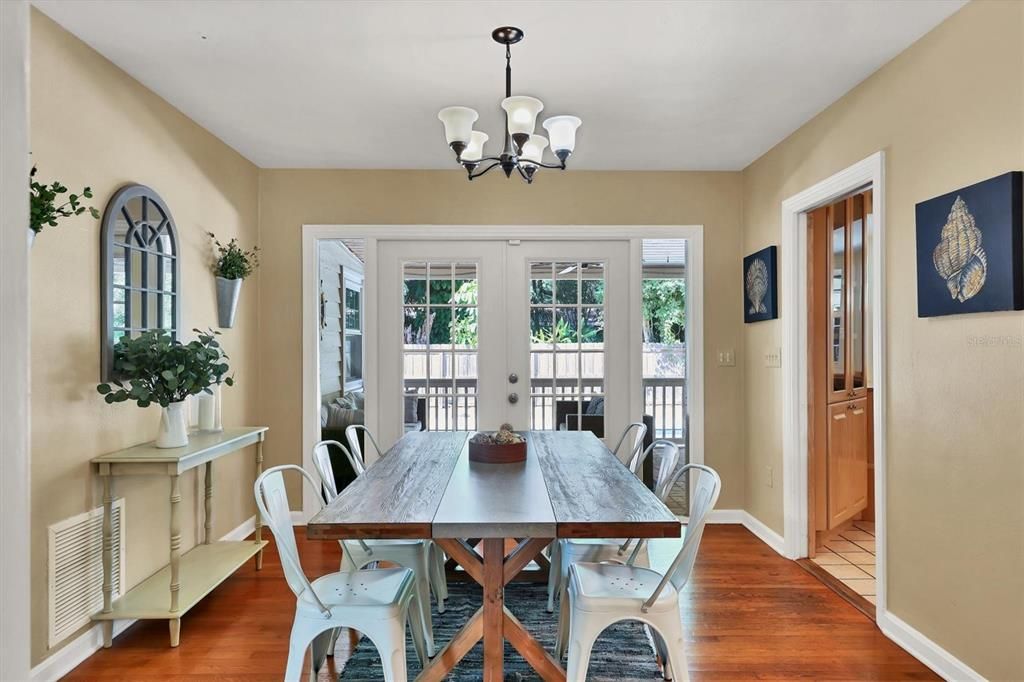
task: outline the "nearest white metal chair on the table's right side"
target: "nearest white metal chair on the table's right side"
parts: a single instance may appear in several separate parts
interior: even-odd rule
[[[562,601],[555,643],[559,660],[568,647],[569,682],[586,679],[594,641],[605,628],[620,621],[640,621],[650,628],[665,679],[689,679],[679,594],[693,570],[705,523],[718,501],[722,479],[711,467],[687,464],[673,476],[672,483],[687,471],[699,473],[699,477],[683,546],[665,576],[629,564],[574,563],[569,568],[568,598]]]

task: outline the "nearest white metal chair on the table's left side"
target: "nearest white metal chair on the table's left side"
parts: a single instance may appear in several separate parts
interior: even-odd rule
[[[276,541],[285,580],[296,596],[285,680],[296,682],[300,679],[302,660],[310,644],[310,679],[315,679],[338,630],[351,628],[369,637],[377,647],[384,679],[406,682],[407,622],[413,632],[420,663],[427,660],[413,571],[409,568],[340,571],[310,583],[299,560],[288,493],[285,491],[284,473],[292,470],[299,472],[311,485],[316,485],[312,476],[301,467],[287,464],[267,469],[253,486],[259,514]]]

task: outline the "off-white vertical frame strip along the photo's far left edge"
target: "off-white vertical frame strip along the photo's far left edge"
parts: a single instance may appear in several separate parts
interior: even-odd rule
[[[0,679],[27,680],[29,598],[29,3],[0,2]]]

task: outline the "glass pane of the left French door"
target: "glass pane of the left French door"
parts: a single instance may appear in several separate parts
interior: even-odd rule
[[[404,413],[429,431],[474,430],[477,266],[406,263],[403,273]]]

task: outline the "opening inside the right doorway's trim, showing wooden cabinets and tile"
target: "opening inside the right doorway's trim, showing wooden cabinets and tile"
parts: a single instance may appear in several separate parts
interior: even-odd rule
[[[808,563],[873,616],[874,454],[867,314],[870,187],[809,211]]]

